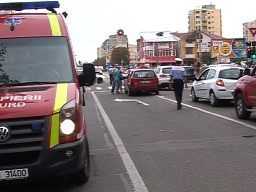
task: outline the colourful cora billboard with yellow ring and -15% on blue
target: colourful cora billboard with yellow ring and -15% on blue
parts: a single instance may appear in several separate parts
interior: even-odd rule
[[[212,39],[211,58],[215,57],[247,57],[246,39]]]

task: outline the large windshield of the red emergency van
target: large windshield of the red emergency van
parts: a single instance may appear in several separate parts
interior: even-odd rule
[[[0,85],[26,82],[74,82],[67,38],[0,39]]]

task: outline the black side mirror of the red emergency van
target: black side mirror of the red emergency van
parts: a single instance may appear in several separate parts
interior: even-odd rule
[[[92,86],[96,83],[95,67],[92,63],[83,64],[83,73],[79,75],[80,86]]]

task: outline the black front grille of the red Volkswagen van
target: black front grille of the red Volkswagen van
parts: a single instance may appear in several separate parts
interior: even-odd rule
[[[0,168],[38,163],[47,146],[48,119],[23,118],[0,120],[0,127],[10,131],[10,137],[0,140]]]

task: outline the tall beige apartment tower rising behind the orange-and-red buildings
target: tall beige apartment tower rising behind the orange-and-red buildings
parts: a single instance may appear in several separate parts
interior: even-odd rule
[[[215,5],[197,6],[188,12],[188,31],[201,29],[205,33],[222,36],[221,9]]]

